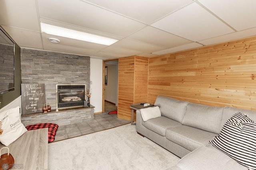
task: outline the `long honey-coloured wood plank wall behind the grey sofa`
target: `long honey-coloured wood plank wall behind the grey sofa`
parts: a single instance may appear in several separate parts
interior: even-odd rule
[[[148,102],[158,95],[256,110],[256,37],[150,58]]]

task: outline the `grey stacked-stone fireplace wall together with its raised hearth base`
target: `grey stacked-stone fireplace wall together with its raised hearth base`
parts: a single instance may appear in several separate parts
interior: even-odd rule
[[[90,57],[21,49],[22,83],[44,83],[46,103],[56,109],[56,84],[85,84],[90,88]],[[94,118],[94,109],[22,117],[25,125],[52,122],[67,125]],[[52,117],[52,118],[51,118]]]

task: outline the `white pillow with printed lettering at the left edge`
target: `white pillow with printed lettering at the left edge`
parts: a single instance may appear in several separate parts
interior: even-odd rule
[[[20,120],[20,107],[8,109],[0,113],[0,142],[8,146],[26,131]]]

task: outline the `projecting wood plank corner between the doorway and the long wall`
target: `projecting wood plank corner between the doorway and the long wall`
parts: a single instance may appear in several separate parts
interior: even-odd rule
[[[118,118],[131,120],[130,105],[147,101],[147,86],[148,58],[139,56],[119,58]]]

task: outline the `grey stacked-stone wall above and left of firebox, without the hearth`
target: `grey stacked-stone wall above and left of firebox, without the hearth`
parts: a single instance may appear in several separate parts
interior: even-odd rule
[[[90,88],[90,57],[21,49],[22,83],[44,83],[46,103],[56,109],[56,84],[86,84]]]

